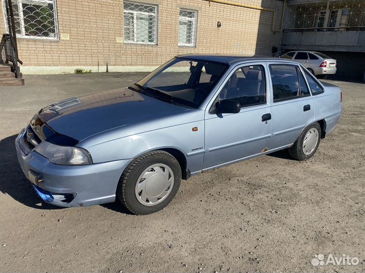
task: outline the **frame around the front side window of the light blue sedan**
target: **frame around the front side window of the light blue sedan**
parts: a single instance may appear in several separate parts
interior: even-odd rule
[[[207,108],[208,113],[210,115],[215,115],[215,113],[211,113],[213,104],[216,100],[216,98],[220,95],[220,93],[222,92],[224,86],[226,85],[226,83],[228,82],[228,80],[232,77],[233,73],[236,72],[238,69],[246,67],[246,66],[255,66],[255,65],[261,65],[264,69],[264,74],[265,74],[265,103],[260,103],[260,104],[250,104],[250,105],[246,105],[244,107],[241,107],[242,109],[247,109],[247,108],[251,108],[251,107],[257,107],[257,106],[262,106],[262,105],[268,105],[269,100],[268,100],[268,79],[267,79],[267,75],[266,75],[266,65],[265,62],[253,62],[253,63],[241,63],[241,64],[237,64],[235,67],[233,67],[231,69],[231,71],[229,72],[229,74],[227,75],[227,77],[224,79],[224,81],[222,82],[222,84],[218,87],[217,92],[215,92],[215,94],[212,96],[212,99],[209,101],[209,103],[207,104]]]

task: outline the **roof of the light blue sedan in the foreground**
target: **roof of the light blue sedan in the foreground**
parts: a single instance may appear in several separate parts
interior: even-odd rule
[[[283,60],[277,57],[267,57],[267,56],[229,56],[229,55],[204,55],[204,54],[184,54],[178,55],[176,58],[186,58],[190,60],[200,60],[200,61],[210,61],[210,62],[218,62],[218,63],[226,63],[226,64],[233,64],[239,62],[272,62],[272,61],[285,61],[285,62],[293,62],[297,63],[296,61],[291,60]]]

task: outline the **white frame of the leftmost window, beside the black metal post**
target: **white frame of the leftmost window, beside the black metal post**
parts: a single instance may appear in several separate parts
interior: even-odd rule
[[[5,3],[3,0],[3,11],[4,11],[4,18],[5,18],[5,28],[6,31],[9,32],[8,23],[6,19],[6,10],[5,10]],[[36,40],[59,40],[59,31],[58,31],[58,20],[57,20],[57,0],[31,0],[31,2],[41,2],[41,3],[49,3],[53,4],[53,14],[54,14],[54,22],[55,22],[55,37],[45,37],[45,36],[31,36],[25,35],[25,24],[24,24],[24,15],[23,15],[23,0],[15,0],[18,4],[18,12],[19,12],[19,23],[20,23],[20,31],[21,33],[17,33],[17,38],[24,38],[24,39],[36,39]],[[29,0],[28,0],[29,1]],[[25,0],[27,2],[27,0]]]

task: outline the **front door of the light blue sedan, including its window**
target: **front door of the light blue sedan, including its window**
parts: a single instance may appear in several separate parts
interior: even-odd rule
[[[203,169],[222,166],[267,150],[271,136],[271,108],[268,103],[268,72],[263,63],[232,69],[205,113]],[[236,114],[219,114],[223,100],[241,106]]]

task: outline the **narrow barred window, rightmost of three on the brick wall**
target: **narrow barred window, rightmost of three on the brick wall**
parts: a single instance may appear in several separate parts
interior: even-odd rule
[[[178,45],[195,47],[198,12],[180,9]]]

